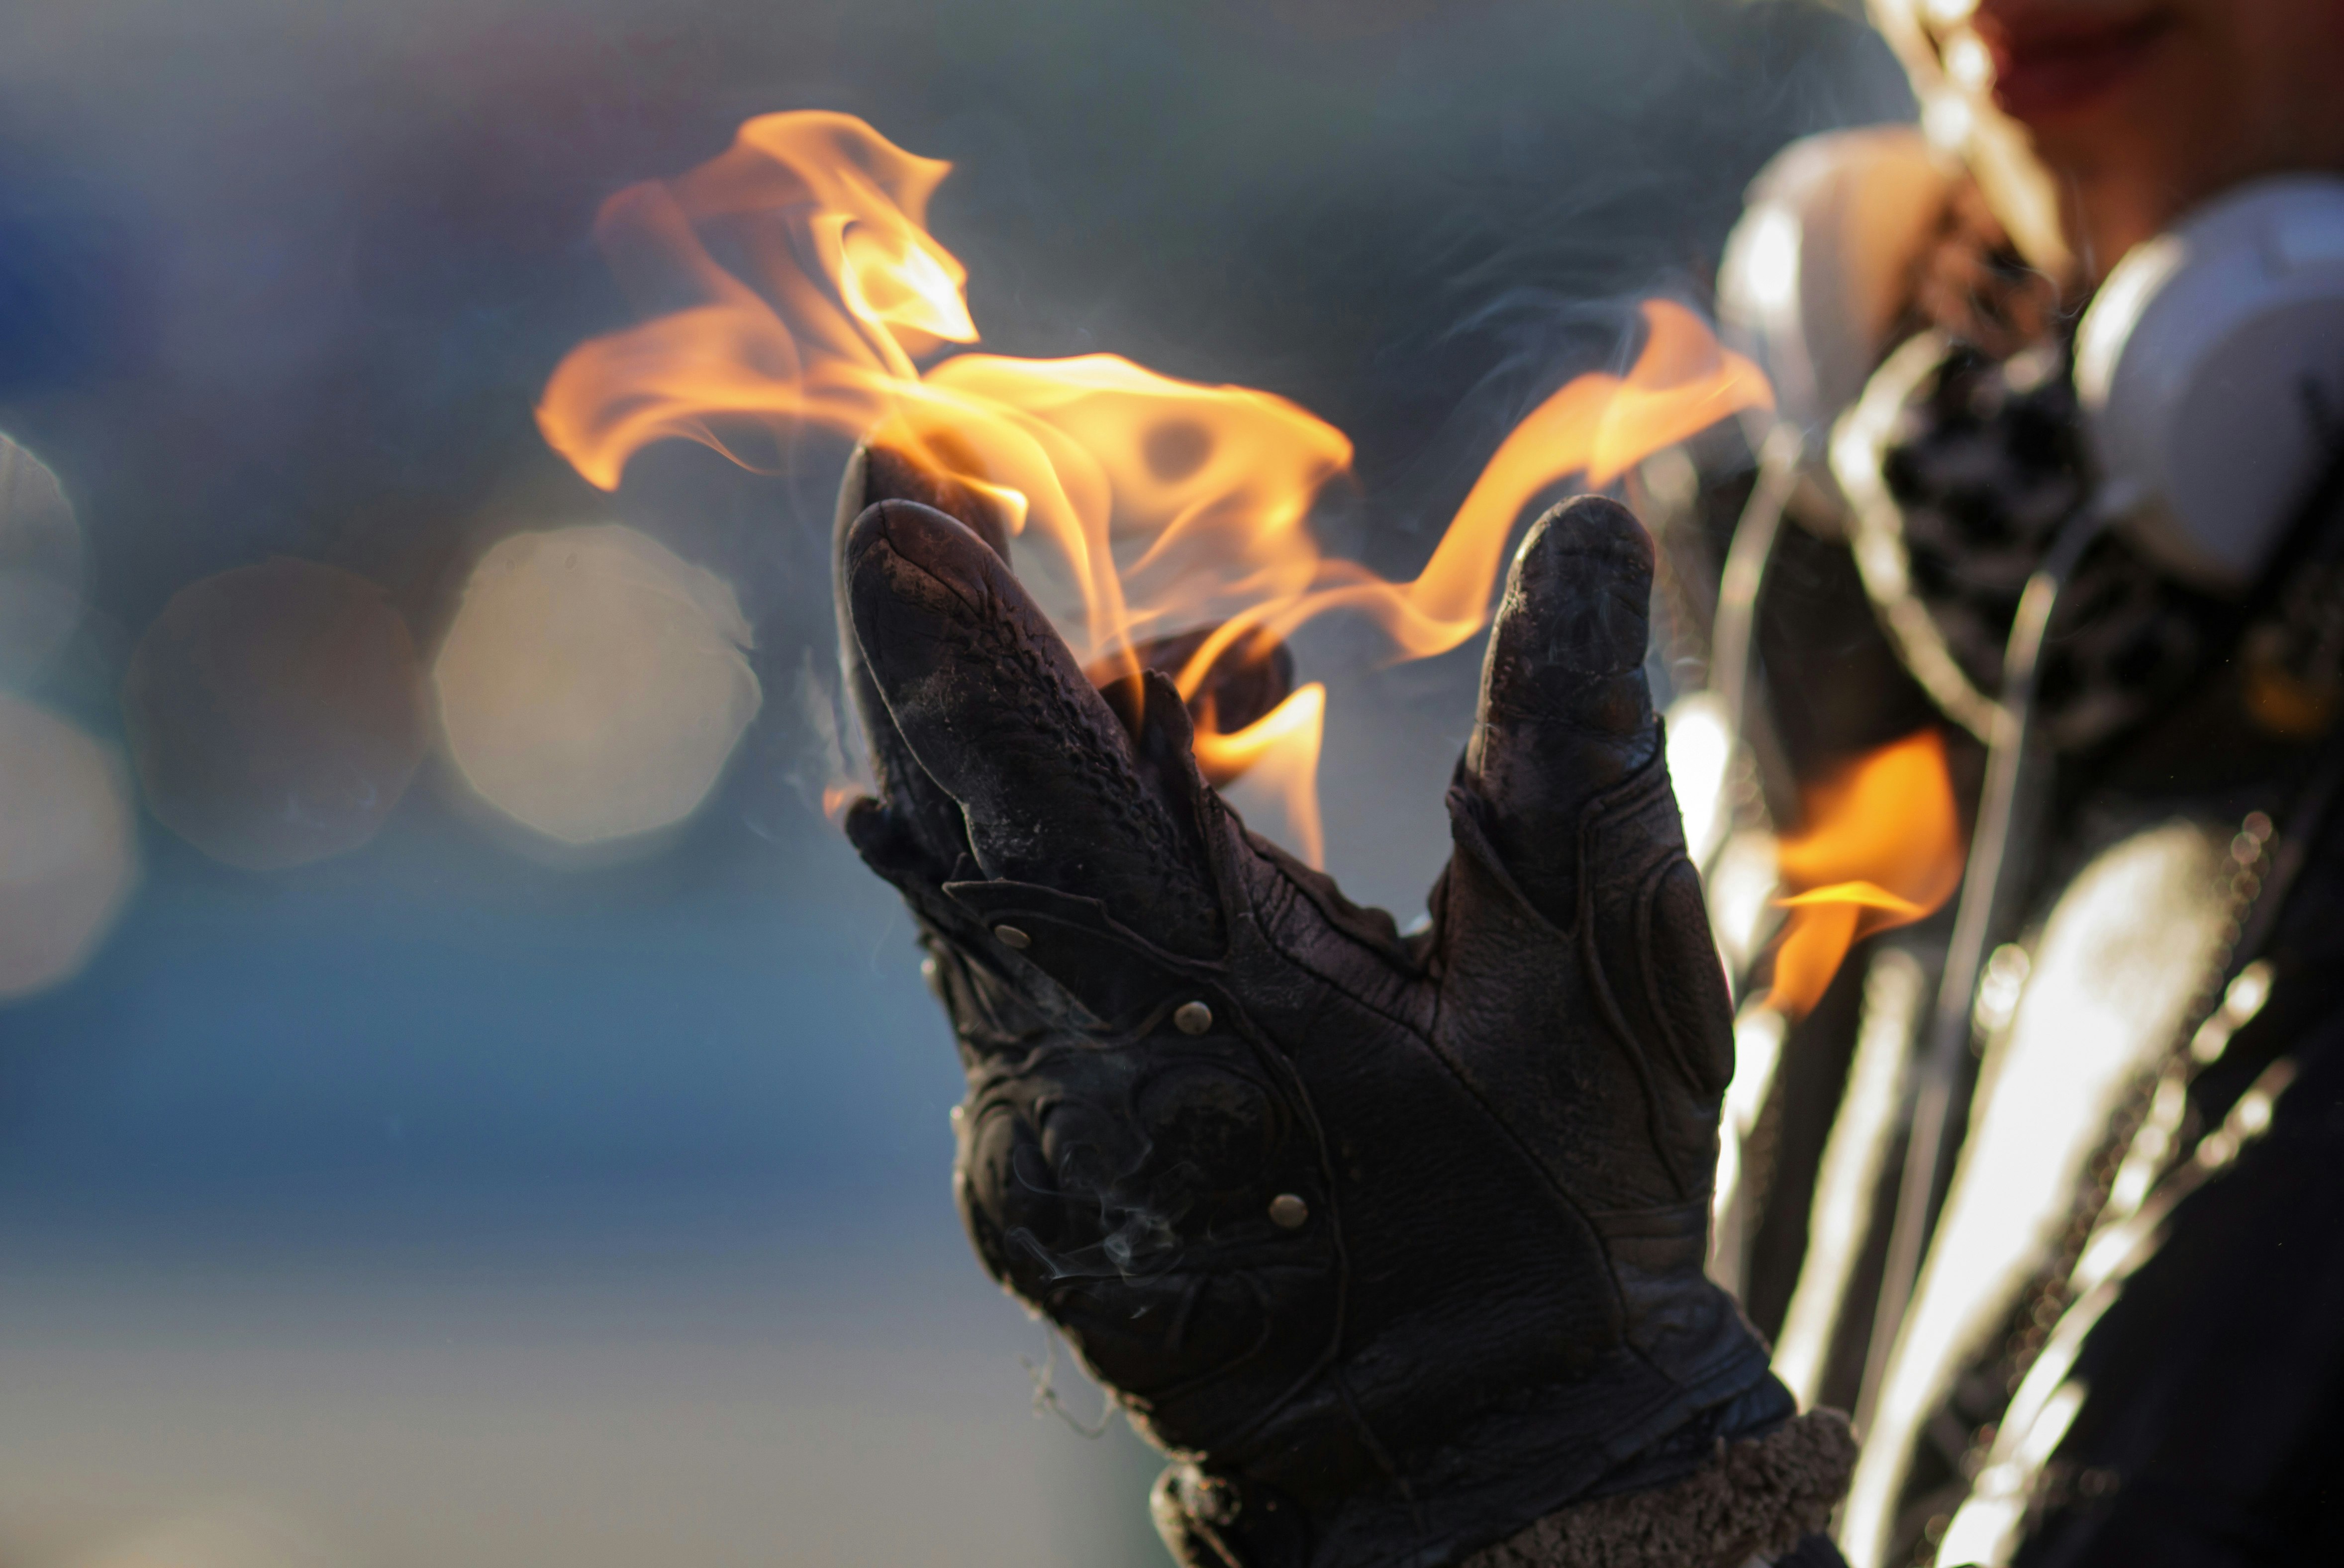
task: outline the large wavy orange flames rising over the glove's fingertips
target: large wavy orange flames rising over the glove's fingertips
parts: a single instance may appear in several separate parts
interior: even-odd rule
[[[682,178],[612,197],[595,227],[621,277],[689,305],[572,349],[537,408],[546,441],[605,490],[668,436],[736,459],[734,431],[816,424],[884,443],[1001,504],[1020,577],[1085,663],[1132,668],[1134,645],[1217,626],[1177,675],[1193,698],[1240,638],[1270,649],[1327,609],[1371,616],[1402,659],[1465,642],[1542,490],[1570,473],[1608,485],[1772,403],[1765,377],[1692,312],[1650,300],[1634,368],[1582,375],[1540,403],[1425,570],[1392,584],[1320,553],[1310,506],[1350,466],[1350,441],[1285,398],[1177,382],[1113,354],[956,354],[921,373],[919,359],[977,340],[968,272],[926,230],[945,173],[853,115],[790,113],[750,120]],[[1198,724],[1207,766],[1277,783],[1313,863],[1322,724],[1320,687],[1238,734],[1219,734],[1210,713]]]

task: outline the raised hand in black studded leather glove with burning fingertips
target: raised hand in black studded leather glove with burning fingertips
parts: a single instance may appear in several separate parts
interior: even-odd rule
[[[959,1034],[977,1254],[1172,1451],[1174,1554],[1456,1563],[1779,1427],[1702,1275],[1732,1027],[1636,520],[1521,546],[1413,938],[1245,830],[1165,675],[1097,691],[999,544],[886,452],[849,473],[846,832]]]

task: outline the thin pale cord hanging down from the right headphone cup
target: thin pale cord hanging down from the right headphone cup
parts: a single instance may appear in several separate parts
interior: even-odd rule
[[[1913,1095],[1913,1137],[1906,1141],[1903,1184],[1896,1191],[1896,1219],[1889,1228],[1887,1270],[1880,1275],[1880,1301],[1873,1308],[1873,1336],[1863,1355],[1863,1385],[1856,1399],[1856,1430],[1868,1430],[1887,1383],[1896,1336],[1903,1329],[1913,1287],[1920,1280],[1922,1252],[1946,1179],[1946,1146],[1953,1132],[1955,1085],[1969,1055],[1971,1010],[1978,970],[1995,935],[2004,870],[2011,860],[2018,790],[2025,776],[2028,741],[2035,722],[2035,687],[2042,675],[2044,638],[2067,577],[2091,541],[2107,525],[2100,509],[2086,511],[2060,532],[2051,553],[2028,579],[2011,619],[2011,640],[2002,656],[2002,720],[1995,724],[1985,755],[1985,788],[1978,797],[1978,827],[1969,841],[1969,865],[1962,874],[1962,902],[1953,916],[1953,940],[1946,947],[1946,973],[1936,989],[1936,1015],[1929,1024],[1929,1055],[1922,1062]]]

